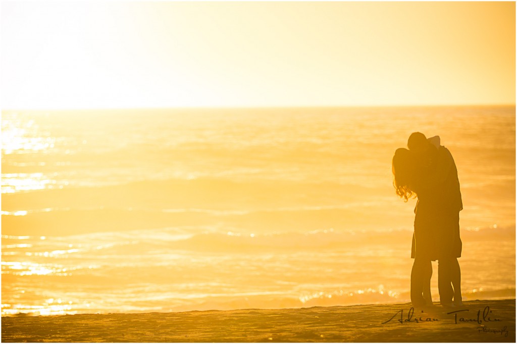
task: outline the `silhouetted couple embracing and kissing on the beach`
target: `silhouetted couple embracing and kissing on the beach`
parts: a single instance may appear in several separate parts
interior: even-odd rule
[[[392,161],[396,193],[407,201],[418,196],[411,257],[411,302],[432,305],[431,261],[438,260],[438,291],[445,307],[462,305],[460,210],[463,209],[458,170],[438,136],[409,136],[407,147],[395,151]]]

